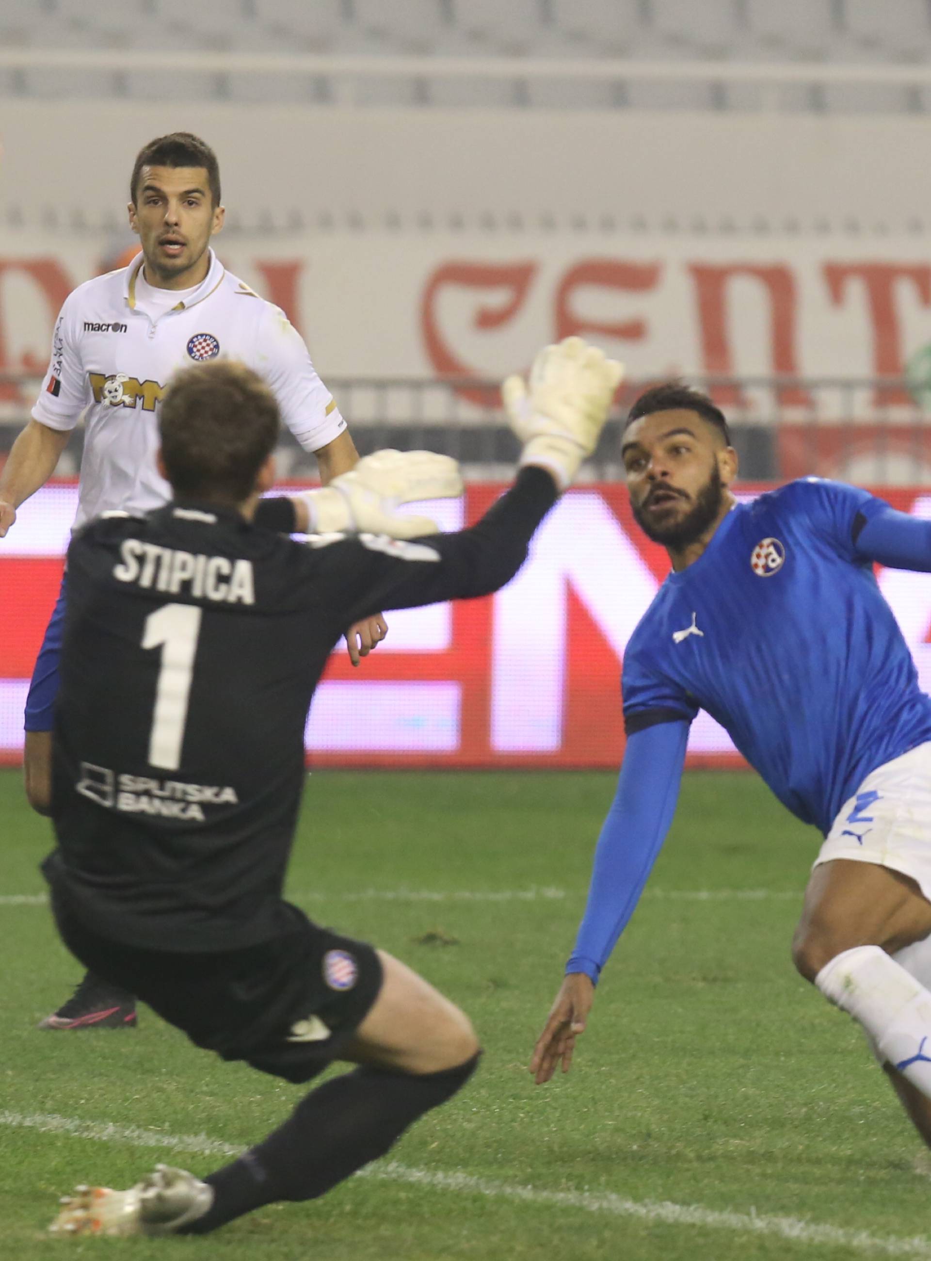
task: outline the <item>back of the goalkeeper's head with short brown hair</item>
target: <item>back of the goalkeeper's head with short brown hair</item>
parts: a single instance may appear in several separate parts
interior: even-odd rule
[[[242,503],[278,441],[278,402],[245,363],[182,368],[161,400],[161,459],[177,498]]]

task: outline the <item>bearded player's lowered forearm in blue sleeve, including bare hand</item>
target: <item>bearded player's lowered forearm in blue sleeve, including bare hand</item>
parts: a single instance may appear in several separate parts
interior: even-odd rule
[[[602,967],[633,914],[672,823],[688,738],[689,721],[682,719],[643,728],[627,740],[575,948],[530,1061],[537,1086],[549,1082],[560,1062],[569,1072]]]

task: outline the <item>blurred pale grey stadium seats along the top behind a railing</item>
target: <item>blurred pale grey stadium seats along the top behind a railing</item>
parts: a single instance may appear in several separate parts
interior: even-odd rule
[[[926,112],[931,86],[839,82],[819,67],[931,61],[927,0],[3,0],[0,48],[363,55],[507,57],[515,74],[430,72],[177,76],[174,95],[366,106],[815,110]],[[592,76],[521,74],[524,58],[590,59]],[[618,78],[598,62],[682,63],[681,76]],[[688,74],[688,63],[811,64],[811,81],[766,86]],[[0,72],[0,96],[163,95],[164,73],[125,62],[112,72],[43,68],[24,55]]]

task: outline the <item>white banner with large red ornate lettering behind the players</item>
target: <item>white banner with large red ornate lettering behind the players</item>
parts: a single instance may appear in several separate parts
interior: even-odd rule
[[[931,256],[908,237],[377,232],[231,235],[216,247],[284,306],[324,377],[497,380],[573,333],[622,357],[640,381],[901,377],[931,346]],[[0,373],[44,373],[61,303],[107,261],[92,241],[0,235]],[[908,402],[901,391],[881,395],[887,406]],[[865,391],[858,400],[877,401]],[[722,402],[743,410],[752,395],[732,387]],[[811,406],[791,383],[780,402]]]

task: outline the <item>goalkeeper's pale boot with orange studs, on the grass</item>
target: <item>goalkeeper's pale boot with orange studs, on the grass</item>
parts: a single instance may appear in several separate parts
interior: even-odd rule
[[[79,1235],[174,1235],[213,1203],[213,1188],[184,1169],[156,1165],[129,1190],[76,1187],[63,1195],[49,1232]]]

